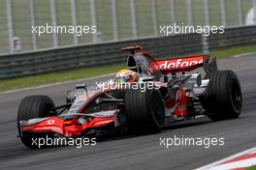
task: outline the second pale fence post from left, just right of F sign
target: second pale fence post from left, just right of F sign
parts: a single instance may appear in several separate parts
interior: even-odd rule
[[[29,11],[30,11],[30,23],[31,23],[31,29],[33,26],[35,26],[35,6],[34,6],[34,0],[29,0]],[[37,49],[37,33],[32,33],[31,30],[31,41],[33,50]]]

